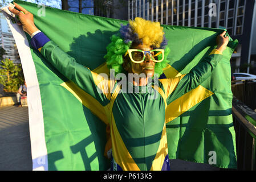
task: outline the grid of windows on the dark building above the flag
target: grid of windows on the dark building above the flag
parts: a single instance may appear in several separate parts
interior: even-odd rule
[[[143,2],[145,2],[145,9]],[[210,17],[208,14],[211,2],[217,5],[217,16]],[[245,6],[245,0],[198,0],[197,3],[193,0],[173,0],[167,1],[167,5],[166,1],[161,0],[130,0],[129,19],[140,16],[161,24],[212,28],[221,26],[226,28],[230,35],[241,35]],[[162,11],[161,7],[163,7]]]

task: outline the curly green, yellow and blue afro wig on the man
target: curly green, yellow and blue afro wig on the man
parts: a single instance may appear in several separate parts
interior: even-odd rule
[[[165,49],[164,60],[155,65],[155,73],[160,76],[169,63],[167,56],[170,52],[168,47],[165,48],[167,40],[163,28],[159,22],[151,22],[139,17],[129,20],[126,26],[121,24],[119,33],[111,36],[111,43],[107,46],[107,55],[104,56],[108,68],[115,69],[115,74],[123,73],[124,54],[132,43],[143,43],[154,49]]]

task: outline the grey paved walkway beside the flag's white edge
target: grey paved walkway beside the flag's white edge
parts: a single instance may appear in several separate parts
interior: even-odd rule
[[[0,107],[0,170],[32,170],[27,107]]]

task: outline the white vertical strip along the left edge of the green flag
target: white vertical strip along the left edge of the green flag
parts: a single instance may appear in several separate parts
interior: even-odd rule
[[[12,23],[10,15],[2,11],[13,33],[18,48],[24,77],[27,84],[27,104],[29,106],[29,130],[33,171],[48,171],[47,148],[44,138],[43,110],[40,88],[32,59],[29,41],[17,23]]]

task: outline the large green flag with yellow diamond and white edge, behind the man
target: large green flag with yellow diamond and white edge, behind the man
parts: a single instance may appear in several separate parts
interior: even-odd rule
[[[110,37],[127,21],[72,13],[15,1],[34,15],[45,35],[78,63],[105,72],[104,55]],[[43,13],[42,13],[43,12]],[[106,170],[107,134],[104,114],[92,111],[83,90],[59,73],[38,50],[22,27],[7,16],[27,82],[33,169]],[[167,78],[188,73],[216,47],[217,28],[165,26],[170,53]],[[230,38],[224,58],[212,76],[186,94],[175,93],[166,109],[169,159],[237,168],[231,114],[230,57],[237,40]],[[153,127],[153,126],[152,126]],[[170,164],[172,165],[172,164]]]

